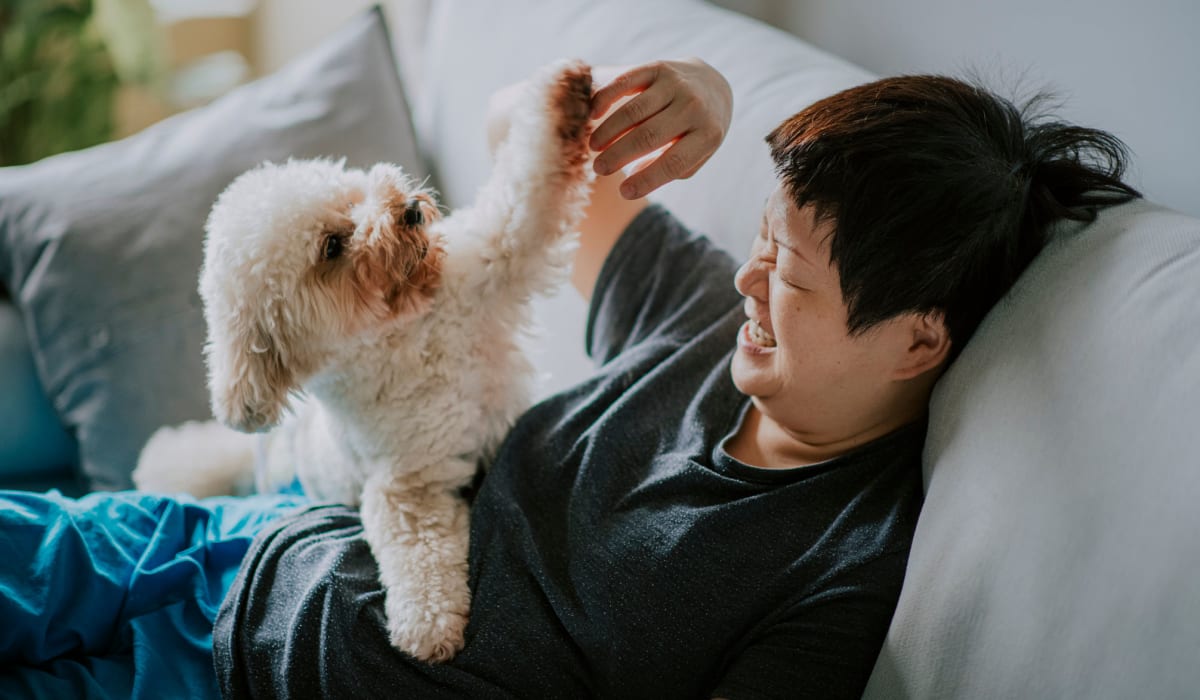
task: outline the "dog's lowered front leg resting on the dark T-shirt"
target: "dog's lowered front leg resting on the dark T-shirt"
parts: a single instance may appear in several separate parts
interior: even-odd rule
[[[426,662],[445,662],[463,645],[467,586],[467,503],[445,485],[379,474],[362,491],[362,530],[386,591],[392,646]]]

